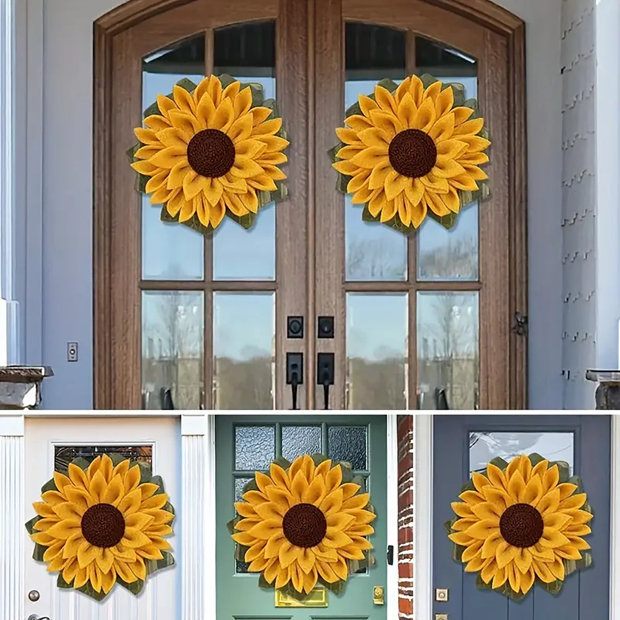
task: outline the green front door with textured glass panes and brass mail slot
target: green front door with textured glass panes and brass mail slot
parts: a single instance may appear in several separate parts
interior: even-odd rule
[[[385,604],[373,602],[375,587],[386,582],[386,418],[370,415],[218,415],[216,418],[217,620],[386,620]],[[348,577],[342,593],[327,591],[327,606],[276,606],[276,592],[259,587],[259,574],[235,559],[226,523],[235,516],[234,502],[255,471],[283,457],[321,453],[352,464],[366,480],[376,509],[372,522],[376,563]],[[393,586],[392,586],[393,587]],[[317,588],[321,588],[320,582]],[[312,598],[321,598],[322,592]]]

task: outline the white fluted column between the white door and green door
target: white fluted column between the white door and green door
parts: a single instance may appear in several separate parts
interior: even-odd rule
[[[181,618],[215,618],[215,416],[181,416]]]

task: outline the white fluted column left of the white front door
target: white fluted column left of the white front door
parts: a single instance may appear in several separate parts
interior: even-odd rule
[[[24,618],[24,416],[0,416],[0,618]]]

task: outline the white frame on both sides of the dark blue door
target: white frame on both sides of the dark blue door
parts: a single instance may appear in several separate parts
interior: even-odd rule
[[[507,412],[508,413],[508,412]],[[510,412],[523,413],[523,412]],[[546,414],[547,412],[536,412]],[[562,414],[582,414],[566,411]],[[597,414],[590,414],[597,415]],[[414,416],[414,618],[433,617],[433,417]],[[609,619],[620,620],[620,418],[611,416]],[[429,509],[430,508],[430,509]]]

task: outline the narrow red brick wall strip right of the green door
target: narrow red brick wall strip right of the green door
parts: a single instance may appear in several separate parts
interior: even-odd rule
[[[398,609],[399,620],[414,617],[414,418],[398,423]]]

